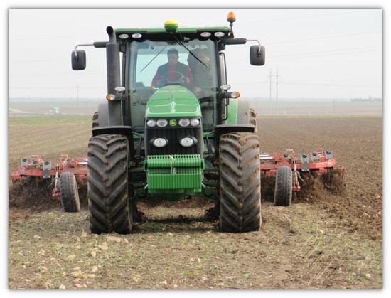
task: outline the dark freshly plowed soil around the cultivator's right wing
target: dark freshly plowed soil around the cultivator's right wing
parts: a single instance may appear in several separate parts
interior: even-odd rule
[[[298,194],[299,200],[316,201],[353,230],[382,239],[382,118],[274,118],[265,119],[259,129],[264,152],[333,151],[338,164],[346,167],[346,190],[325,192],[319,181],[312,181],[310,193]]]

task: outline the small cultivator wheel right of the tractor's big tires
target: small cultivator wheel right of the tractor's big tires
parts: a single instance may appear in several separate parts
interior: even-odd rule
[[[279,166],[274,186],[274,206],[289,206],[292,203],[292,169]]]

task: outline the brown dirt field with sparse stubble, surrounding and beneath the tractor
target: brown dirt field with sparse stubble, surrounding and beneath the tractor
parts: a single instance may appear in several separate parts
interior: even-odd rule
[[[30,154],[85,156],[89,124],[36,129],[9,127],[10,171]],[[45,185],[10,186],[9,289],[382,289],[382,117],[259,117],[258,132],[264,152],[332,150],[346,190],[284,208],[263,187],[258,232],[222,233],[213,202],[189,199],[142,201],[134,233],[92,235],[85,192],[63,213]]]

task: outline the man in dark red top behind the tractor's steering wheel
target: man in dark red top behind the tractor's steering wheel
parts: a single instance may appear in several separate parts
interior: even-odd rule
[[[193,76],[186,64],[178,61],[179,54],[176,48],[167,52],[168,62],[160,65],[152,79],[152,86],[155,88],[164,87],[167,83],[181,83],[185,87],[193,86]]]

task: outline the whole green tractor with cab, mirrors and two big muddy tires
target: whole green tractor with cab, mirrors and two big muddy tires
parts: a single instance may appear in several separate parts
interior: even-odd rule
[[[187,196],[215,200],[223,231],[259,230],[255,113],[229,92],[224,54],[225,46],[249,40],[234,37],[235,14],[227,21],[230,26],[200,28],[173,20],[164,28],[109,26],[109,41],[88,45],[107,52],[107,103],[93,117],[87,154],[92,233],[132,233],[137,201]],[[264,46],[255,42],[250,63],[264,65]],[[77,47],[72,67],[84,70],[86,54]],[[171,54],[181,68],[168,65]]]

